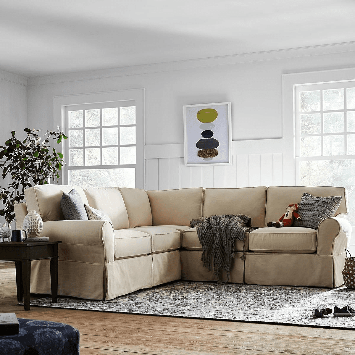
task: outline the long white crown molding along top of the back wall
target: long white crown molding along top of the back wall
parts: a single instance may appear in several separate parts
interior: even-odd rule
[[[291,49],[271,50],[255,53],[245,53],[236,55],[226,55],[202,59],[180,60],[174,62],[163,62],[155,64],[144,64],[136,66],[126,66],[114,69],[92,70],[67,74],[39,76],[28,78],[28,86],[55,84],[72,81],[83,81],[93,79],[103,79],[111,77],[141,75],[148,73],[158,73],[166,71],[179,71],[200,67],[230,65],[249,62],[259,62],[266,60],[277,60],[285,58],[296,58],[304,56],[315,56],[324,54],[335,54],[355,51],[355,42],[336,43],[318,45],[312,47],[301,47]]]

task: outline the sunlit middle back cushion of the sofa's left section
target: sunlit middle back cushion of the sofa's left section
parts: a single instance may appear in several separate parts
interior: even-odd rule
[[[114,230],[129,227],[126,206],[118,187],[84,187],[84,192],[90,207],[107,213]]]

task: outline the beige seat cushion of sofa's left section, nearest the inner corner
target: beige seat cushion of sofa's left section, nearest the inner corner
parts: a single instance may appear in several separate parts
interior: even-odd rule
[[[151,237],[152,253],[179,249],[180,230],[166,227],[165,225],[148,225],[143,227],[131,228],[129,230],[141,231]]]

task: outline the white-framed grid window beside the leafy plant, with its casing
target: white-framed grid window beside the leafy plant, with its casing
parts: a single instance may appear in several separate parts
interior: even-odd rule
[[[144,189],[144,89],[54,97],[62,140],[61,183]]]

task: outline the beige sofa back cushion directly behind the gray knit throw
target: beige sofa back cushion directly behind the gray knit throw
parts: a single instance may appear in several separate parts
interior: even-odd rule
[[[266,187],[205,189],[203,217],[212,214],[244,214],[255,227],[265,225]]]

